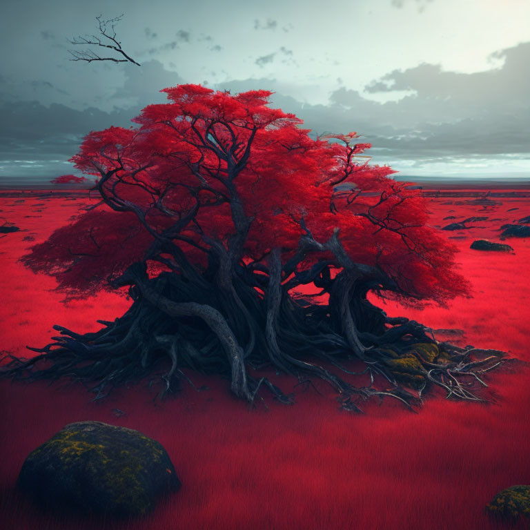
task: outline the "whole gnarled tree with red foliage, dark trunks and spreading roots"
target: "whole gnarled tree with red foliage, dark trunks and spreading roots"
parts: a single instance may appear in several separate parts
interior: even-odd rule
[[[227,375],[244,400],[264,385],[291,402],[259,377],[268,365],[322,378],[351,410],[372,395],[411,406],[432,385],[480,399],[472,384],[502,353],[437,342],[367,299],[467,293],[418,189],[369,165],[356,133],[312,139],[268,107],[272,92],[163,92],[170,102],[144,108],[137,126],[85,137],[72,161],[97,178],[101,202],[23,258],[70,296],[126,287],[132,306],[95,333],[55,326],[61,335],[8,375],[70,375],[101,397],[166,360],[161,395],[190,368]],[[364,364],[370,386],[346,380],[347,360]]]

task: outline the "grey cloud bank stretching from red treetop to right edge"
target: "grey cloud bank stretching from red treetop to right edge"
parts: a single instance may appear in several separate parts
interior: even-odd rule
[[[281,87],[271,79],[231,81],[222,86],[233,92],[277,89],[271,98],[274,106],[304,119],[304,127],[319,135],[364,133],[364,140],[374,146],[374,157],[380,160],[528,157],[530,43],[501,50],[494,58],[504,59],[502,66],[471,74],[444,72],[431,64],[390,72],[366,87],[373,93],[409,93],[386,103],[339,88],[326,106],[303,104],[282,95]]]

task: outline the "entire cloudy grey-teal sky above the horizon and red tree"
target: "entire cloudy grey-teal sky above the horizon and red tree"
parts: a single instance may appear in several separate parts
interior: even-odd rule
[[[100,14],[123,14],[141,66],[71,60]],[[273,90],[314,134],[362,134],[398,178],[528,180],[528,20],[528,0],[6,0],[0,185],[72,173],[90,130],[181,83]]]

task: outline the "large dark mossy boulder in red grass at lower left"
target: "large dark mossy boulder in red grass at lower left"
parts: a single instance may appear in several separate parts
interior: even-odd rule
[[[142,516],[180,481],[161,444],[101,422],[67,425],[24,462],[19,485],[46,507]]]

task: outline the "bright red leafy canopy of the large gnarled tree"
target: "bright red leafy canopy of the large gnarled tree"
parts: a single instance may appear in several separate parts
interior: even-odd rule
[[[412,301],[466,292],[453,271],[455,248],[426,226],[420,192],[394,181],[388,166],[369,165],[361,153],[371,144],[353,144],[356,133],[313,139],[302,120],[268,108],[266,90],[162,92],[170,102],[144,108],[138,127],[92,132],[72,158],[98,178],[106,209],[81,214],[26,257],[63,288],[102,286],[179,223],[173,242],[204,266],[208,241],[228,246],[241,231],[241,205],[249,222],[242,261],[262,261],[279,246],[286,262],[306,230],[322,243],[338,231],[354,262],[378,266]],[[300,266],[326,257],[311,251]]]

